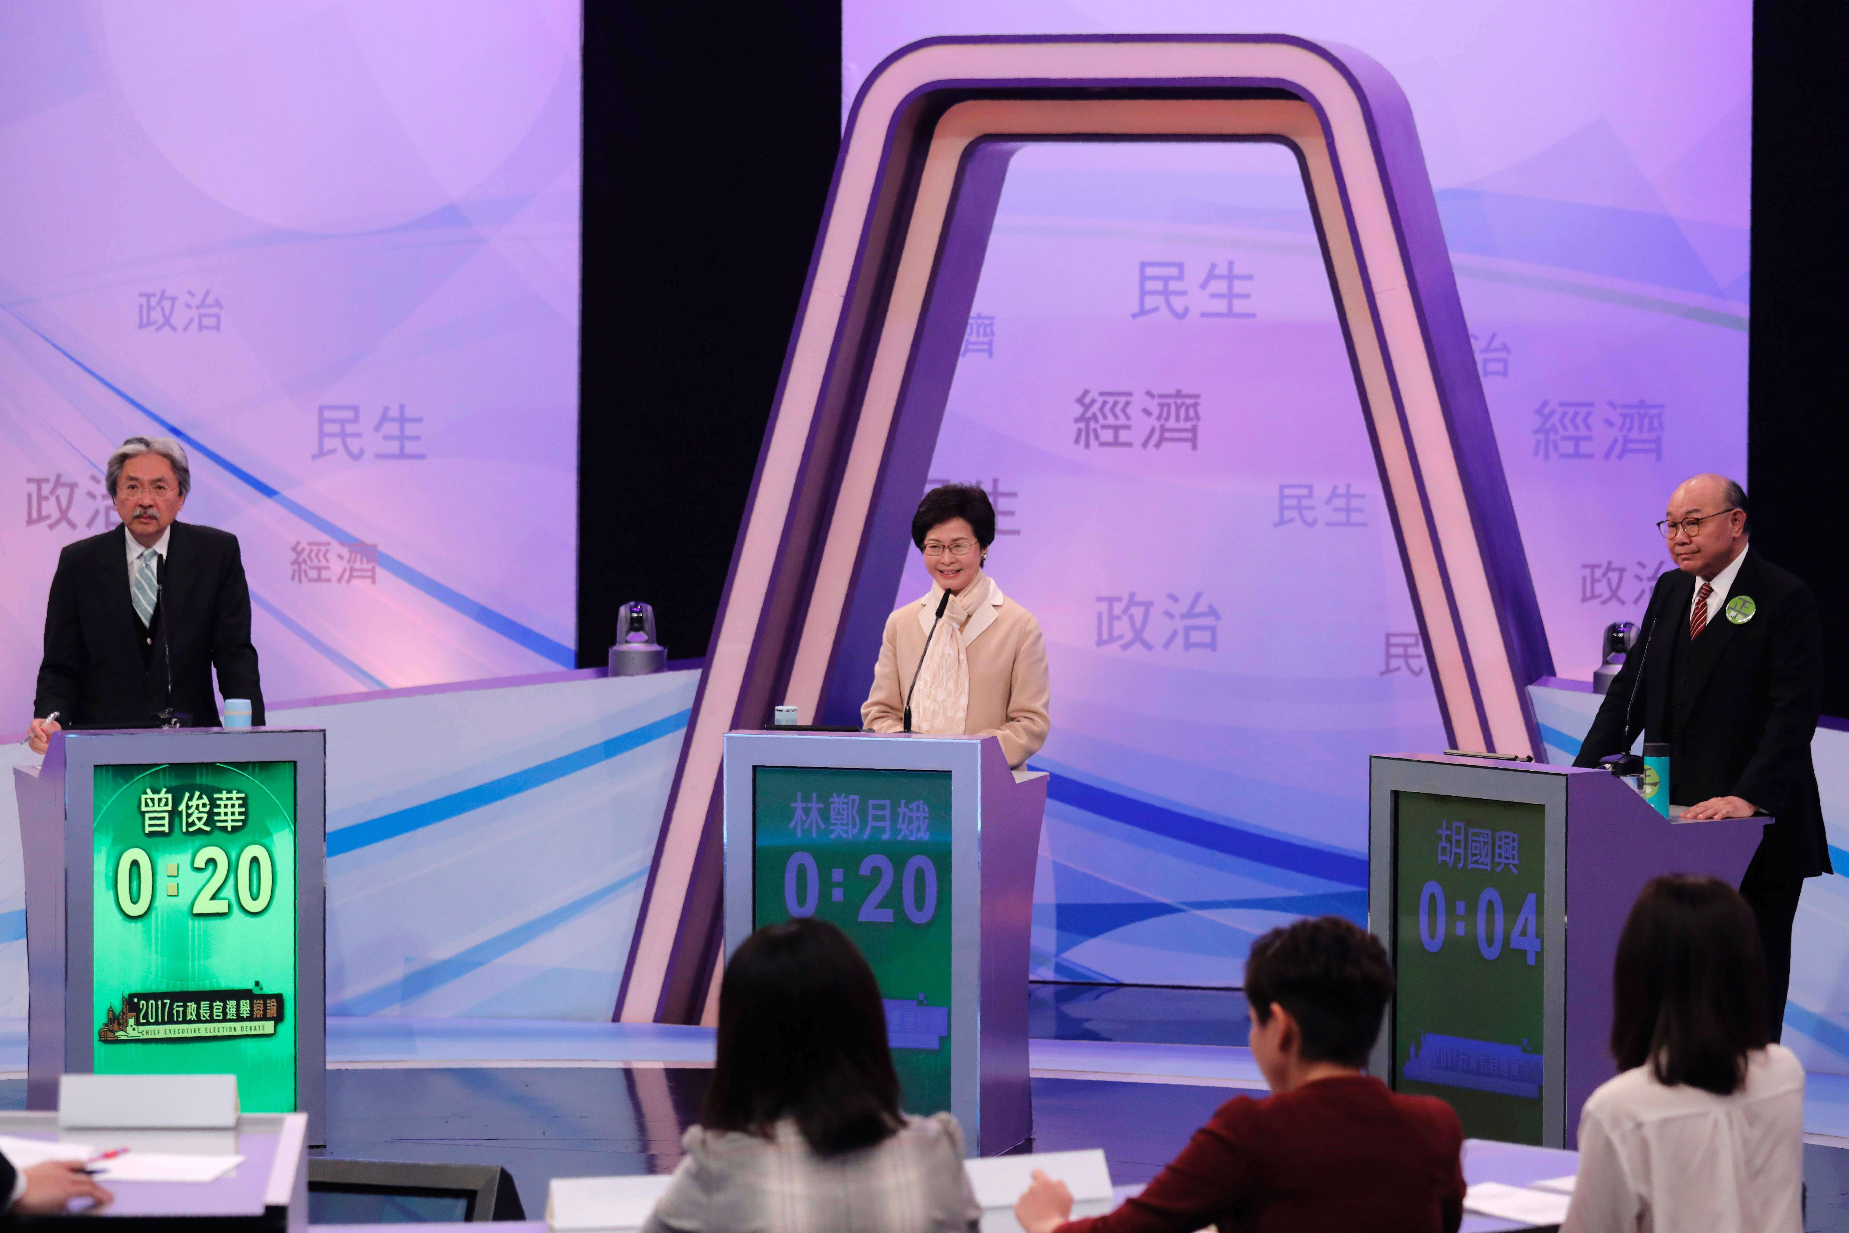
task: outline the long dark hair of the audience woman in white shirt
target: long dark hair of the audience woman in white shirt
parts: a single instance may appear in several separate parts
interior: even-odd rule
[[[1768,1039],[1753,909],[1720,878],[1651,878],[1631,904],[1612,967],[1618,1068],[1649,1063],[1662,1083],[1725,1096],[1745,1081],[1745,1056]]]

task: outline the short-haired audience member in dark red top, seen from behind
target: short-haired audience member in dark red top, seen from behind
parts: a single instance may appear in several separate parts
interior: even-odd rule
[[[1392,996],[1379,941],[1341,917],[1298,921],[1246,959],[1252,1057],[1270,1100],[1228,1100],[1122,1207],[1067,1220],[1041,1172],[1015,1203],[1026,1233],[1453,1233],[1464,1215],[1457,1115],[1363,1074]]]

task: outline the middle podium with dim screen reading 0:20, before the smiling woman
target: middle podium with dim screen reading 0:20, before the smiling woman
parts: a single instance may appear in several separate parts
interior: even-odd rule
[[[993,736],[729,732],[727,958],[821,917],[873,965],[906,1111],[976,1155],[1034,1137],[1028,932],[1047,776]]]

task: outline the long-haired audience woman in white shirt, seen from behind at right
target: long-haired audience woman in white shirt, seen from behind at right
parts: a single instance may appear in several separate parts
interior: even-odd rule
[[[1805,1068],[1766,1033],[1753,909],[1718,878],[1638,895],[1612,972],[1622,1074],[1579,1113],[1564,1231],[1803,1227]]]

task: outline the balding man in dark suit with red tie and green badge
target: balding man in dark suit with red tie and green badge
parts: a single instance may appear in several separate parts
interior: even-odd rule
[[[1745,490],[1697,475],[1670,495],[1659,529],[1677,571],[1657,579],[1644,634],[1612,680],[1573,765],[1646,741],[1670,745],[1670,800],[1684,817],[1775,821],[1740,895],[1766,946],[1773,1039],[1792,982],[1792,919],[1805,878],[1831,871],[1810,765],[1823,678],[1818,601],[1795,575],[1747,551]]]

